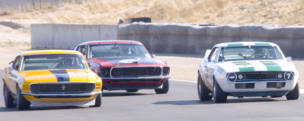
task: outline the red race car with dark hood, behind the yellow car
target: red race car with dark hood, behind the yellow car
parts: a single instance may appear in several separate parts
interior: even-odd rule
[[[138,41],[91,41],[77,47],[87,59],[90,69],[103,80],[103,90],[154,89],[156,93],[169,90],[170,67],[154,60]]]

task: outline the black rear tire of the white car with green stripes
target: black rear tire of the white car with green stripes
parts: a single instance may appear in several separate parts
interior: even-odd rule
[[[212,93],[212,91],[210,91],[206,87],[205,83],[203,82],[203,79],[200,77],[199,74],[197,76],[197,93],[198,93],[198,98],[201,101],[212,99],[212,95],[209,95],[209,93]]]

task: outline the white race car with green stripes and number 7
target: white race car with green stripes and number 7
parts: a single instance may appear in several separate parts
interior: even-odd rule
[[[215,103],[234,97],[299,98],[299,72],[291,57],[278,45],[266,42],[234,42],[207,50],[198,69],[197,90],[200,100]]]

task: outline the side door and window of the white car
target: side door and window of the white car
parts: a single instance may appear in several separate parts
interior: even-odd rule
[[[205,65],[205,75],[207,77],[206,86],[211,89],[213,88],[213,74],[215,72],[214,67],[215,67],[215,62],[217,59],[218,50],[219,50],[218,47],[214,47],[211,50],[211,53],[209,54],[209,57],[208,57],[207,64]]]

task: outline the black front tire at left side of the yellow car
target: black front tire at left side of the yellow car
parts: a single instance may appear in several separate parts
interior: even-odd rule
[[[17,109],[18,110],[26,110],[29,109],[31,106],[31,103],[29,101],[27,101],[24,96],[21,94],[21,91],[17,85]]]

